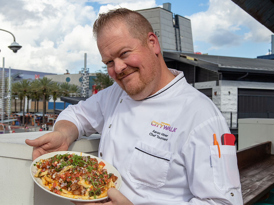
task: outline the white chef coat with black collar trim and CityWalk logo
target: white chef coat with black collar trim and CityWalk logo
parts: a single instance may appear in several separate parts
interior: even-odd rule
[[[99,157],[122,176],[120,192],[134,204],[243,204],[234,146],[215,104],[182,72],[143,100],[114,83],[57,118],[82,135],[100,133]],[[220,145],[213,146],[213,134]]]

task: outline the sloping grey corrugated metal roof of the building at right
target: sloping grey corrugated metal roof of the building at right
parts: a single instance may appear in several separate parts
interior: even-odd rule
[[[178,53],[177,53],[178,54]],[[239,58],[228,56],[211,56],[211,55],[199,55],[191,53],[180,53],[182,55],[190,56],[199,60],[204,60],[210,63],[218,64],[219,67],[239,67],[248,69],[260,69],[260,70],[273,70],[274,60],[259,59],[259,58]]]

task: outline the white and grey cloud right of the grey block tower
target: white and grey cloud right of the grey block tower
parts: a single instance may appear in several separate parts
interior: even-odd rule
[[[237,47],[246,41],[269,42],[272,33],[231,0],[210,0],[207,11],[186,18],[191,20],[194,44],[209,43],[208,50]]]

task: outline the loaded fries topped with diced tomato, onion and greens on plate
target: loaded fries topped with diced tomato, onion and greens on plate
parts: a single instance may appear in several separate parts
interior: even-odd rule
[[[45,186],[56,194],[75,199],[98,199],[115,187],[117,177],[103,169],[105,163],[96,158],[76,154],[57,154],[34,164]]]

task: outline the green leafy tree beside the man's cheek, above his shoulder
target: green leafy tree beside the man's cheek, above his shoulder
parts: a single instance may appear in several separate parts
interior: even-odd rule
[[[103,90],[109,86],[111,86],[115,81],[110,78],[108,75],[108,71],[106,66],[102,67],[104,69],[104,72],[99,70],[96,72],[96,79],[94,80],[94,84],[96,85],[96,90]]]

